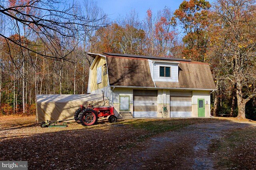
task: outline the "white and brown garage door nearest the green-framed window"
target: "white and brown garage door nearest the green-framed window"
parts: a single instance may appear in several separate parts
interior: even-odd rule
[[[157,90],[133,90],[134,117],[157,117]]]

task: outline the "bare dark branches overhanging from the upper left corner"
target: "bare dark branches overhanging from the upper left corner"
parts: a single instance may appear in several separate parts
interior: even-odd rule
[[[62,6],[65,6],[65,8],[60,9],[58,7],[60,3]],[[27,26],[32,30],[33,34],[40,37],[42,42],[46,45],[46,48],[50,51],[50,54],[54,53],[55,49],[49,48],[49,44],[53,45],[56,40],[54,35],[58,33],[60,36],[58,38],[62,38],[62,43],[60,44],[61,48],[68,51],[66,56],[74,50],[72,46],[69,46],[70,38],[80,39],[84,37],[87,33],[84,31],[84,27],[87,28],[86,31],[90,31],[108,25],[98,23],[99,20],[102,20],[106,16],[88,19],[86,16],[72,14],[73,7],[73,4],[66,4],[66,2],[58,0],[28,0],[24,1],[24,3],[16,2],[15,0],[8,3],[4,0],[0,0],[0,14],[6,17],[5,21],[8,22],[10,28],[13,28],[13,20],[16,22],[16,27],[20,24]],[[24,10],[26,8],[30,9],[32,13],[26,13],[26,10]],[[93,25],[92,23],[97,24]],[[17,42],[8,37],[8,34],[0,33],[0,36],[5,38],[8,43],[12,42],[30,52],[40,54],[46,58],[65,59],[66,57],[60,54],[52,56],[50,54],[37,52],[33,48],[26,46],[26,44],[22,44],[21,41]]]

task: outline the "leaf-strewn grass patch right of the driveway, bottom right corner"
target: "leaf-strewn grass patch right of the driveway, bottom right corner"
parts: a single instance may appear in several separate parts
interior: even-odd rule
[[[216,169],[256,168],[256,128],[238,129],[213,142],[210,152],[216,155]]]

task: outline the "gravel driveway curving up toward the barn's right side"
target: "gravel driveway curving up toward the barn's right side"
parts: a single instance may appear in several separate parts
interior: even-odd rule
[[[214,170],[213,155],[208,152],[212,140],[230,130],[254,126],[250,123],[219,122],[193,124],[177,131],[150,138],[123,155],[115,169]]]

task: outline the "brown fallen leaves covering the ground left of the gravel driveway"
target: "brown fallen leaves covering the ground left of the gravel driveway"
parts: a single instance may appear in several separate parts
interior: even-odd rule
[[[120,167],[123,160],[133,158],[134,153],[141,153],[142,148],[151,148],[152,143],[141,144],[152,136],[169,130],[179,135],[177,130],[190,124],[225,121],[225,118],[130,119],[118,120],[117,124],[99,121],[95,126],[87,127],[72,123],[66,128],[40,128],[34,116],[0,117],[0,160],[28,160],[29,169],[113,169]],[[245,138],[253,140],[248,136]],[[194,145],[187,142],[192,140],[191,136],[183,135],[180,140],[182,142],[172,147],[156,150],[154,154],[159,155],[159,159],[151,161],[152,165],[142,164],[140,167],[179,167],[182,164],[180,158],[192,154],[189,148]],[[254,148],[250,148],[250,152],[255,153]],[[148,154],[147,150],[144,154]],[[147,159],[142,156],[136,161],[145,162]]]

